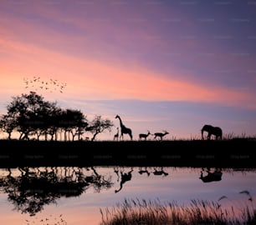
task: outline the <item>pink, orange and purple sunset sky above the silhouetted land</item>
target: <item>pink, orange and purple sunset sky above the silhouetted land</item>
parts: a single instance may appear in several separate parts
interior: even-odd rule
[[[0,77],[0,113],[36,91],[115,127],[119,114],[135,139],[206,123],[255,136],[256,1],[0,0]]]

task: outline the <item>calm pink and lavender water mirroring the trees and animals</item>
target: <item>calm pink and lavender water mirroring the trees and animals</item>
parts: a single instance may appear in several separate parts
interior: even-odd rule
[[[125,199],[180,205],[200,199],[234,208],[255,203],[256,169],[209,171],[171,167],[0,169],[0,224],[95,225],[101,222],[100,209],[105,212]]]

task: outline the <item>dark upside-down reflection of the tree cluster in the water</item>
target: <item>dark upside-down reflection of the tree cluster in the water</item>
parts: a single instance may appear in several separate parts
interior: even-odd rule
[[[30,216],[43,210],[44,205],[56,203],[59,198],[78,197],[90,187],[100,192],[112,185],[111,179],[105,179],[95,168],[86,170],[92,171],[90,176],[83,168],[18,169],[20,175],[16,177],[8,169],[8,175],[0,178],[0,187],[8,193],[8,201],[13,203],[14,209]]]

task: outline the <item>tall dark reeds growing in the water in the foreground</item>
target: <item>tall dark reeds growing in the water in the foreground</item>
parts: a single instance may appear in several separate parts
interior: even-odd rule
[[[192,200],[189,206],[159,200],[127,200],[113,208],[100,209],[100,225],[242,225],[256,224],[256,208],[246,206],[237,212],[232,206],[222,208],[219,203]]]

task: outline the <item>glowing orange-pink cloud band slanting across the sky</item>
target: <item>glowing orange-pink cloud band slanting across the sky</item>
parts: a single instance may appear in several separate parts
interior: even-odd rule
[[[2,40],[1,45],[6,47],[7,52],[14,52],[16,57],[19,56],[17,61],[7,60],[5,63],[3,71],[11,72],[10,75],[15,73],[17,76],[17,81],[5,81],[6,87],[13,86],[15,82],[21,82],[22,76],[38,74],[43,77],[61,78],[69,85],[67,94],[83,96],[87,99],[133,98],[218,102],[225,105],[255,107],[253,105],[255,100],[249,92],[246,92],[247,90],[214,87],[214,84],[205,86],[182,78],[195,76],[192,73],[184,74],[173,69],[170,72],[174,75],[172,78],[161,72],[151,72],[140,65],[131,67],[122,64],[110,65],[104,61],[97,62],[90,58],[69,56],[28,43]],[[13,68],[19,68],[20,72]]]

